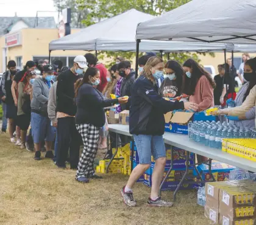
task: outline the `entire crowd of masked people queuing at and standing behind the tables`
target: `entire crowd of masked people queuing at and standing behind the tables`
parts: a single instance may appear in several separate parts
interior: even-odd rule
[[[140,164],[121,189],[124,202],[136,206],[132,187],[150,167],[152,155],[155,168],[148,204],[172,206],[158,196],[166,164],[164,114],[177,109],[204,111],[219,105],[222,108],[219,114],[227,115],[237,125],[255,128],[252,121],[255,120],[256,58],[244,56],[243,69],[238,74],[244,85],[237,95],[236,69],[230,59],[218,66],[219,74],[213,78],[193,59],[181,66],[174,60],[164,63],[162,58],[149,53],[138,59],[137,79],[130,61],[121,57],[108,70],[93,54],[77,56],[71,68],[63,67],[61,61],[53,64],[27,61],[22,71],[16,71],[16,63],[11,60],[1,81],[10,142],[35,151],[35,160],[41,159],[41,151],[46,148],[44,157],[53,159],[59,168],[66,168],[69,162],[70,168],[77,170],[76,180],[87,183],[102,178],[95,174],[94,159],[99,148],[107,147],[105,108],[113,107],[116,113],[130,110],[130,133],[137,145]],[[40,75],[35,74],[36,67]],[[166,99],[180,95],[187,98]],[[230,98],[235,108],[226,108]],[[122,136],[117,141],[125,144]],[[84,145],[81,156],[80,145]]]

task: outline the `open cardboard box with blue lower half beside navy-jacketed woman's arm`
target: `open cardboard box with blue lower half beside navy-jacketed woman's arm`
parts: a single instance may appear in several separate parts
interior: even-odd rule
[[[188,134],[188,122],[193,112],[167,112],[165,114],[165,131],[178,134]]]

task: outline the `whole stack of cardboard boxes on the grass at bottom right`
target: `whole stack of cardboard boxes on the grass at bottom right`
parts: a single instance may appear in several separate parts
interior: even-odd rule
[[[205,216],[213,224],[254,225],[256,223],[255,182],[224,181],[205,185]]]

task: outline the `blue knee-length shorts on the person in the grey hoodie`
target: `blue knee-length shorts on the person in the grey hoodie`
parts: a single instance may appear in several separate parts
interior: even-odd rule
[[[32,137],[35,144],[54,141],[54,127],[51,126],[51,120],[48,117],[41,116],[36,112],[31,112]]]

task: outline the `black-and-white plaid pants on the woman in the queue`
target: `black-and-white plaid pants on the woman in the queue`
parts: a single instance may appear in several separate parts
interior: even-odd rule
[[[84,150],[79,160],[76,179],[93,176],[95,174],[93,164],[98,150],[99,128],[91,124],[76,124],[76,129],[82,136]]]

